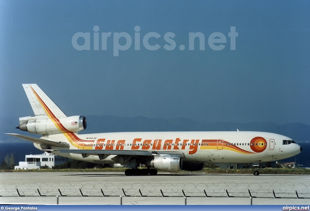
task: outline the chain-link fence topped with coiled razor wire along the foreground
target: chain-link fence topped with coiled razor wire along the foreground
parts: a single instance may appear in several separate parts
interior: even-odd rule
[[[0,187],[1,204],[310,204],[303,183],[41,183]]]

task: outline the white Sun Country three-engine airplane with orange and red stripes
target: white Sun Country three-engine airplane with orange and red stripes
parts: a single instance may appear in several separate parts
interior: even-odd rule
[[[299,154],[302,148],[283,135],[253,131],[113,132],[78,134],[85,116],[66,116],[37,84],[23,84],[34,116],[19,118],[22,131],[9,134],[39,150],[100,164],[129,165],[125,175],[156,175],[157,170],[197,171],[205,163],[261,163]],[[146,167],[140,169],[139,167]],[[253,164],[253,166],[255,166]],[[259,175],[255,169],[254,175]]]

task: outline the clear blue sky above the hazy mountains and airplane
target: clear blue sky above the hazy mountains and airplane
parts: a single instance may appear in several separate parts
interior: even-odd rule
[[[310,124],[309,6],[307,1],[1,0],[0,116],[33,115],[21,84],[37,83],[68,116]],[[230,50],[231,26],[238,33],[236,50]],[[90,33],[90,50],[73,47],[78,32]],[[101,50],[105,32],[111,36]],[[113,36],[121,32],[132,44],[113,56]],[[148,40],[158,50],[144,47],[150,32],[161,36]],[[164,49],[168,32],[175,34],[172,51]],[[190,51],[189,33],[197,32],[204,34],[205,50],[196,38]],[[215,32],[226,38],[215,43],[223,50],[208,45]],[[125,45],[126,39],[118,42]],[[77,43],[83,45],[83,38]]]

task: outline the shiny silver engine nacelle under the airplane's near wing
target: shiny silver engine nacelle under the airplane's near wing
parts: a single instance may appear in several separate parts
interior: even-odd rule
[[[177,155],[163,155],[149,160],[148,167],[153,167],[161,171],[179,171],[182,169],[182,157]]]

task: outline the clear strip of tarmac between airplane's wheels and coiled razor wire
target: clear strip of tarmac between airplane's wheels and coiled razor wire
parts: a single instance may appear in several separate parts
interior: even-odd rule
[[[171,174],[158,173],[156,176],[126,176],[122,172],[13,172],[0,173],[0,180],[5,184],[32,184],[32,183],[105,183],[131,184],[139,183],[304,183],[310,184],[309,175],[281,175],[261,174],[259,176],[248,174]]]

